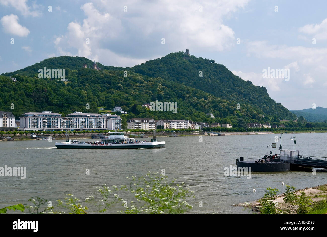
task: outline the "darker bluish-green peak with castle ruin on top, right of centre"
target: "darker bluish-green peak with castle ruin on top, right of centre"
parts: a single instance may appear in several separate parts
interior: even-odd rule
[[[224,65],[210,63],[209,59],[187,56],[183,52],[170,53],[161,59],[150,60],[131,68],[149,77],[161,77],[208,92],[220,98],[250,104],[260,108],[262,114],[278,115],[279,118],[296,119],[281,103],[267,94],[266,87],[255,86],[232,74]],[[202,71],[202,77],[199,72]]]

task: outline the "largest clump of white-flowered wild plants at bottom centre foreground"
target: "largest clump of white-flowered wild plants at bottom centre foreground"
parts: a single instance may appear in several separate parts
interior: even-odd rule
[[[129,177],[127,177],[129,178]],[[132,176],[129,186],[122,185],[121,189],[134,195],[135,200],[129,203],[123,199],[125,214],[181,214],[192,209],[186,199],[195,196],[189,188],[175,184],[176,179],[168,181],[167,176],[148,171],[141,177]]]

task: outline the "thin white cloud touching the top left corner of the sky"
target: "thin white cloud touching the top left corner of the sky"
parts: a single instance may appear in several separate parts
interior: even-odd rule
[[[42,14],[42,12],[39,10],[42,5],[37,5],[36,2],[33,2],[32,7],[27,5],[27,0],[0,0],[0,3],[5,6],[10,5],[11,7],[14,7],[24,16],[36,17]]]

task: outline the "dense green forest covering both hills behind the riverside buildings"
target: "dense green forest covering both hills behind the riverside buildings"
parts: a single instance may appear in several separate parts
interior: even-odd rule
[[[63,115],[74,111],[98,112],[122,106],[127,119],[189,119],[196,122],[279,123],[296,119],[267,94],[265,87],[254,86],[233,75],[226,67],[207,59],[170,53],[132,68],[107,67],[102,70],[82,68],[93,62],[82,57],[55,57],[33,66],[0,76],[0,110],[12,111],[16,117],[26,112],[53,111]],[[68,82],[38,78],[38,70],[66,69]],[[199,70],[203,77],[199,77]],[[124,76],[127,71],[127,77]],[[15,77],[16,82],[9,79]],[[151,101],[176,101],[177,113],[150,111],[142,104]],[[14,104],[11,110],[10,104]],[[86,110],[86,104],[90,109]],[[237,104],[240,108],[237,108]],[[207,116],[213,113],[214,118]]]

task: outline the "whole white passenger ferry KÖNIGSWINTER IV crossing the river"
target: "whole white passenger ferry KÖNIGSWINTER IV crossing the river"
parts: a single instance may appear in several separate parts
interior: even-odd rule
[[[164,147],[164,141],[157,141],[155,132],[153,139],[149,141],[137,141],[125,136],[126,132],[108,132],[109,136],[101,138],[100,141],[77,141],[70,140],[68,134],[65,142],[56,142],[55,146],[60,149],[138,149],[138,148],[160,148]]]

